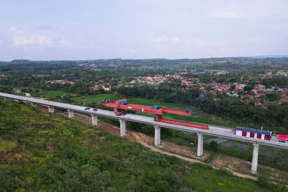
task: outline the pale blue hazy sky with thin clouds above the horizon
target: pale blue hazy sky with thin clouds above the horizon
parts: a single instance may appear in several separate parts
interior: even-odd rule
[[[0,4],[0,61],[288,54],[287,0]]]

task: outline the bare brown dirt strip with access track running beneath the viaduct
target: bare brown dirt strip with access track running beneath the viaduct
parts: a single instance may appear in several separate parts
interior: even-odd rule
[[[42,107],[42,106],[38,106],[39,109],[43,110],[43,111],[48,111],[48,108],[46,107]],[[63,111],[56,111],[55,113],[60,114],[60,115],[64,115],[66,117],[68,117],[68,112],[63,112]],[[74,113],[76,115],[76,117],[73,117],[71,119],[76,120],[76,121],[80,121],[84,124],[91,124],[92,123],[92,118],[88,117],[86,115],[82,115],[79,113]],[[99,121],[98,120],[98,127],[103,128],[104,131],[115,134],[115,135],[119,135],[120,136],[120,128],[115,127],[113,125],[110,125],[109,123],[103,122],[103,121]],[[142,145],[144,145],[145,147],[149,147],[152,151],[155,152],[159,152],[165,155],[172,155],[175,157],[178,157],[180,159],[183,159],[185,161],[189,161],[189,162],[198,162],[198,163],[203,163],[203,161],[200,160],[204,160],[209,156],[209,152],[204,150],[203,151],[203,155],[199,158],[196,156],[197,153],[197,149],[191,149],[189,147],[184,147],[184,146],[178,146],[174,143],[169,143],[169,142],[164,142],[161,140],[161,145],[159,146],[154,146],[154,138],[153,137],[149,137],[145,134],[142,133],[137,133],[137,132],[132,132],[132,131],[127,131],[126,130],[126,135],[124,136],[125,138],[127,138],[130,141],[134,141],[134,142],[139,142]],[[183,157],[181,155],[184,156],[188,156],[188,157]],[[192,157],[192,158],[190,158]],[[199,160],[198,160],[199,159]],[[245,167],[244,169],[240,169],[241,171],[247,171],[249,170],[250,172],[250,167],[251,167],[251,163],[249,164],[248,161],[244,161],[241,159],[237,159],[235,157],[221,157],[220,155],[216,157],[216,159],[212,162],[211,166],[213,167],[213,169],[219,169],[219,168],[226,168],[226,163],[227,162],[232,162],[233,164],[237,164],[237,167]],[[263,166],[264,167],[264,166]],[[230,168],[230,166],[229,166]],[[268,168],[269,170],[274,170],[272,168]],[[231,167],[230,170],[233,170],[233,168]],[[275,170],[276,171],[276,170]],[[235,176],[239,176],[239,177],[243,177],[243,178],[247,178],[247,179],[251,179],[251,180],[257,180],[257,177],[255,176],[251,176],[251,175],[246,175],[246,174],[240,174],[238,172],[232,171],[232,173]],[[285,172],[286,173],[286,172]],[[276,179],[276,178],[275,178]]]

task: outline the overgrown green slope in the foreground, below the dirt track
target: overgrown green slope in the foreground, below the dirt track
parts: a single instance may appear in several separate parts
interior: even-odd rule
[[[0,162],[1,191],[270,191],[96,126],[2,99]]]

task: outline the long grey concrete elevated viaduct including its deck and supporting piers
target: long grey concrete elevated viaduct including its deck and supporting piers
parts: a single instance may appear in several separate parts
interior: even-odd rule
[[[60,109],[66,109],[68,111],[68,118],[74,117],[74,111],[81,112],[81,113],[88,113],[92,116],[92,125],[98,124],[97,122],[98,115],[119,119],[121,136],[124,136],[126,134],[126,121],[135,121],[139,123],[150,124],[150,125],[153,125],[155,129],[154,145],[156,146],[160,145],[161,127],[196,133],[198,136],[197,156],[203,155],[203,135],[204,134],[233,139],[233,140],[250,142],[253,144],[253,157],[252,157],[252,165],[251,165],[252,171],[257,170],[259,145],[268,145],[272,147],[288,149],[287,144],[277,142],[276,136],[272,136],[271,140],[263,140],[263,139],[258,139],[258,138],[250,138],[250,137],[235,135],[232,129],[227,128],[227,127],[208,125],[209,130],[204,130],[204,129],[199,129],[199,128],[186,127],[186,126],[181,126],[181,125],[154,121],[153,117],[143,117],[141,115],[131,115],[131,114],[127,114],[125,116],[118,116],[113,111],[107,111],[107,110],[102,110],[102,109],[98,109],[97,111],[92,111],[92,109],[85,110],[86,107],[82,107],[78,105],[18,96],[18,95],[1,93],[1,92],[0,92],[0,96],[4,99],[13,99],[16,101],[29,102],[31,103],[32,106],[37,106],[37,105],[46,106],[48,107],[49,112],[51,113],[54,113],[55,107],[60,108]]]

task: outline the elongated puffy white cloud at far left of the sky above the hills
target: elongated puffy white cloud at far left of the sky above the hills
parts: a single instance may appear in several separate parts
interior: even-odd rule
[[[50,38],[45,35],[28,34],[16,27],[10,27],[9,33],[13,39],[12,45],[14,47],[21,47],[22,45],[40,45],[40,46],[61,46],[71,47],[73,46],[71,41],[64,40],[62,38]]]

